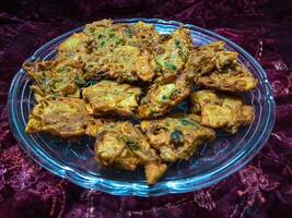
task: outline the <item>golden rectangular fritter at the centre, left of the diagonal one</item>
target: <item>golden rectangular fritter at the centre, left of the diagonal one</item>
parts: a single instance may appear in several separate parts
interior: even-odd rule
[[[141,89],[129,84],[101,81],[83,89],[83,98],[90,114],[119,114],[129,117],[138,107]]]

